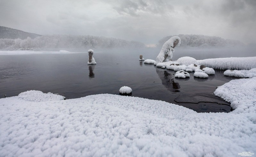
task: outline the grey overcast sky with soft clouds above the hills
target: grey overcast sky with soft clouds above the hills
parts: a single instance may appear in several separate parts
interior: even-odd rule
[[[256,42],[256,0],[0,0],[0,25],[158,43],[203,34]]]

